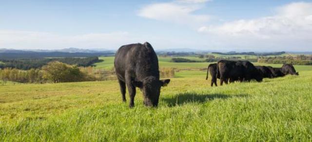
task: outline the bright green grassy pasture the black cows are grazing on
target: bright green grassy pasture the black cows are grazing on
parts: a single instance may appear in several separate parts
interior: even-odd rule
[[[101,59],[97,68],[113,67],[113,57]],[[312,66],[295,68],[300,76],[218,87],[206,71],[181,70],[157,108],[137,89],[130,109],[117,81],[0,83],[0,141],[312,141]]]

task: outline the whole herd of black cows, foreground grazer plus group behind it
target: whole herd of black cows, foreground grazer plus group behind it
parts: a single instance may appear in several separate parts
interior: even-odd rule
[[[115,72],[120,85],[122,101],[126,102],[126,88],[130,96],[130,107],[135,105],[136,87],[143,94],[143,103],[146,106],[157,106],[160,88],[170,82],[159,80],[158,58],[148,42],[135,43],[121,46],[115,56]],[[234,81],[262,81],[263,78],[276,78],[288,74],[298,75],[291,64],[284,64],[281,68],[270,66],[254,66],[249,61],[221,60],[210,64],[207,70],[212,76],[211,85],[216,85],[216,79],[228,83]]]

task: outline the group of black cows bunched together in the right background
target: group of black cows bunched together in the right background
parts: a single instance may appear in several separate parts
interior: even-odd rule
[[[206,80],[208,80],[208,73],[211,75],[211,86],[215,84],[217,86],[216,80],[220,79],[220,85],[225,82],[234,81],[251,81],[256,80],[261,82],[263,78],[277,78],[286,75],[299,75],[294,69],[292,64],[283,64],[282,67],[272,67],[272,66],[254,66],[253,63],[249,61],[227,61],[221,60],[217,63],[212,63],[208,65]]]

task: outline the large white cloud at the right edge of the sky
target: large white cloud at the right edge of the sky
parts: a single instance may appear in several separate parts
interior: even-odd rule
[[[312,39],[312,3],[290,3],[277,8],[274,16],[203,26],[198,31],[235,38]]]

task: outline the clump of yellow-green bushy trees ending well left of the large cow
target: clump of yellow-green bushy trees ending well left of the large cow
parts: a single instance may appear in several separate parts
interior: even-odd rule
[[[72,66],[59,61],[52,61],[40,69],[19,70],[16,68],[0,69],[0,80],[21,83],[45,82],[77,82],[96,81],[97,78],[87,72],[81,71],[77,66]]]

